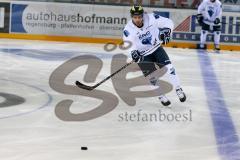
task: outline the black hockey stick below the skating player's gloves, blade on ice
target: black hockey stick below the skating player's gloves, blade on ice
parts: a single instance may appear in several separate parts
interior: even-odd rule
[[[131,61],[129,63],[127,63],[126,65],[122,66],[119,70],[117,70],[116,72],[112,73],[110,76],[106,77],[105,79],[103,79],[101,82],[98,82],[97,84],[95,84],[94,86],[87,86],[85,84],[82,84],[79,81],[76,81],[75,84],[82,89],[86,89],[86,90],[93,90],[94,88],[97,88],[98,86],[100,86],[102,83],[104,83],[105,81],[107,81],[108,79],[110,79],[111,77],[113,77],[114,75],[116,75],[117,73],[119,73],[120,71],[122,71],[123,69],[125,69],[127,66],[129,66],[130,64],[132,64],[134,61]]]

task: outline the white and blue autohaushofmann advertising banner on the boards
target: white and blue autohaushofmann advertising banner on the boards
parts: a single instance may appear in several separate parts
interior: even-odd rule
[[[66,13],[64,12],[66,9],[63,5],[52,5],[46,11],[45,5],[12,4],[11,32],[75,35],[73,30],[79,33],[83,32],[83,29],[104,30],[106,27],[118,27],[122,30],[127,24],[126,17],[111,14],[109,16],[99,15],[95,12],[86,14],[77,7],[73,8],[71,13]]]

